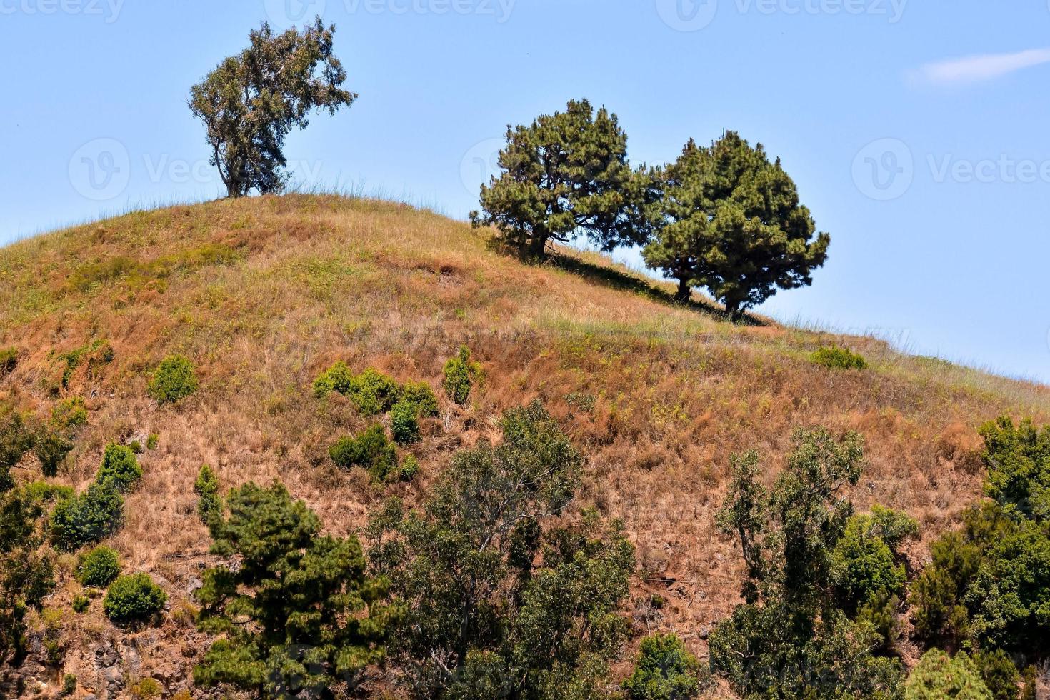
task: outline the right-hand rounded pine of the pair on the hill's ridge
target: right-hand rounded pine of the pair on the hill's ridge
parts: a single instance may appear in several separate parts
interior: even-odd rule
[[[776,293],[813,283],[831,236],[816,233],[810,210],[779,158],[729,131],[704,148],[692,140],[675,163],[649,176],[662,196],[646,208],[646,264],[678,280],[677,298],[705,287],[737,320]],[[816,238],[814,235],[816,234]]]

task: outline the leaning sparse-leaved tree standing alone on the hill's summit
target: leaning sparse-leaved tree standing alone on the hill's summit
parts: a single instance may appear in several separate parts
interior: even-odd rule
[[[301,31],[276,36],[264,22],[249,35],[248,48],[193,86],[189,106],[208,128],[211,164],[229,196],[280,192],[292,128],[306,128],[315,108],[334,114],[357,98],[340,88],[346,71],[332,55],[334,34],[320,17]]]

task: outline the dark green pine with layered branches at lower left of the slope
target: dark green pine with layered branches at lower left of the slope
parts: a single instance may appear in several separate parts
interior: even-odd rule
[[[322,697],[339,682],[353,692],[383,660],[399,612],[385,581],[365,574],[358,540],[321,535],[314,512],[279,484],[231,491],[229,512],[210,524],[211,551],[238,566],[205,573],[201,627],[223,637],[194,681],[267,697]]]

